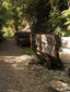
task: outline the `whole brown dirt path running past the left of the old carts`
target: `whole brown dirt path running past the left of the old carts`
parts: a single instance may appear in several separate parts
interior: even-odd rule
[[[0,92],[49,92],[49,73],[26,50],[19,48],[13,38],[0,44]]]

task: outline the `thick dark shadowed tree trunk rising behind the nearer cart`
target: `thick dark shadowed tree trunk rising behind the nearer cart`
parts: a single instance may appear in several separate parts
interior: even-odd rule
[[[38,10],[37,10],[37,23],[36,30],[38,32],[46,31],[46,23],[48,21],[48,15],[50,11],[50,5],[46,6],[46,2],[44,0],[38,1]]]

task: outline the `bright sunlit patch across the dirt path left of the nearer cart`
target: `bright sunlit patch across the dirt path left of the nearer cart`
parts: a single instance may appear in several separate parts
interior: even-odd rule
[[[21,55],[21,56],[0,56],[0,61],[7,64],[11,64],[11,68],[23,70],[24,65],[27,66],[28,63],[36,60],[34,55]]]

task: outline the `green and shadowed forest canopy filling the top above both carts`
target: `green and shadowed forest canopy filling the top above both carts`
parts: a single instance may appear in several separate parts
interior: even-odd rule
[[[28,24],[33,32],[66,31],[67,0],[1,0],[0,29],[13,36]]]

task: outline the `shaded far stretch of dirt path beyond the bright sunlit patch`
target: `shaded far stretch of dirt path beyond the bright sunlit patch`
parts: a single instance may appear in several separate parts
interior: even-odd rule
[[[25,51],[16,45],[14,38],[7,38],[3,43],[0,43],[0,56],[20,56],[23,54]]]

